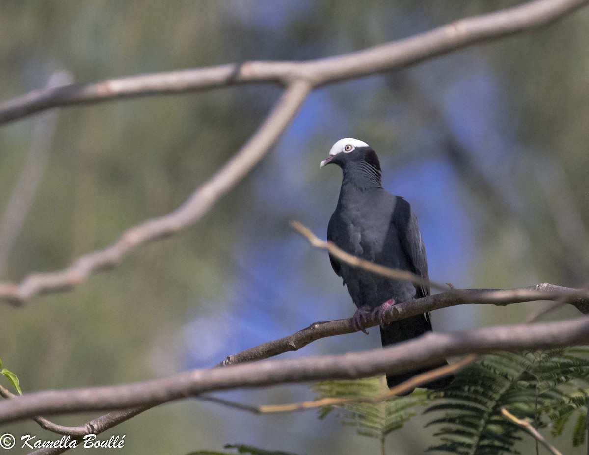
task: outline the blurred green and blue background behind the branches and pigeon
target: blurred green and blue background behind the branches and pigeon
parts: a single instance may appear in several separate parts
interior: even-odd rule
[[[68,78],[325,57],[518,3],[6,1],[0,98]],[[71,292],[19,309],[0,306],[4,366],[25,392],[141,381],[209,367],[314,321],[351,316],[355,307],[326,253],[288,226],[296,219],[325,238],[341,177],[319,162],[342,137],[369,143],[383,186],[412,203],[432,279],[456,287],[583,285],[587,42],[585,9],[540,31],[315,91],[274,150],[196,226],[143,246]],[[279,94],[270,86],[224,88],[67,108],[2,126],[1,279],[62,269],[175,209],[239,149]],[[27,197],[32,205],[19,212]],[[22,228],[16,223],[12,232],[19,216],[26,216]],[[459,306],[436,311],[434,327],[521,322],[541,305]],[[554,317],[575,315],[565,309]],[[372,330],[282,358],[379,345]],[[270,404],[313,393],[300,385],[220,396]],[[96,415],[55,420],[81,424]],[[389,447],[422,453],[432,441],[424,421],[416,417],[393,434]],[[32,422],[4,429],[54,438]],[[124,453],[133,454],[224,443],[309,455],[378,451],[378,441],[332,416],[252,416],[196,400],[155,408],[104,436],[111,434],[126,434]],[[584,453],[569,444],[568,437],[557,442],[566,453]]]

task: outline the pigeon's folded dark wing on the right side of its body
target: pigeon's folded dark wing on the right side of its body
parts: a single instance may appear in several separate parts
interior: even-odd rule
[[[402,197],[397,196],[393,219],[411,272],[429,279],[428,259],[425,256],[425,245],[423,245],[417,217],[413,213],[411,205]],[[415,285],[415,289],[417,291],[415,298],[425,297],[430,293],[429,286]]]

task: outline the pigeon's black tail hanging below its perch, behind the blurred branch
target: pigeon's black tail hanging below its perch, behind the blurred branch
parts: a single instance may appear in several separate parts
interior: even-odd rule
[[[400,321],[393,321],[385,327],[380,328],[380,339],[382,340],[383,347],[395,344],[401,341],[406,341],[411,338],[419,337],[432,330],[432,324],[429,321],[429,315],[426,317],[425,314],[419,314],[411,316],[410,318],[401,319]],[[386,384],[389,387],[395,387],[395,385],[401,384],[406,380],[412,378],[416,374],[433,370],[434,368],[443,367],[448,365],[445,360],[440,362],[438,365],[432,365],[431,367],[418,368],[417,370],[407,371],[399,374],[391,373],[386,375]],[[454,376],[446,376],[439,378],[429,383],[423,384],[421,387],[430,389],[440,389],[448,387],[454,380]],[[413,390],[408,391],[406,394],[411,393]]]

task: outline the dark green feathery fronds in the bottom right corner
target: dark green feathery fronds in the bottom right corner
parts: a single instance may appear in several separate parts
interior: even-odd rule
[[[486,355],[459,372],[426,410],[438,416],[426,425],[436,426],[441,441],[431,449],[468,455],[517,453],[522,430],[502,418],[502,407],[537,428],[551,424],[554,436],[575,414],[573,442],[583,443],[588,353],[588,347],[575,347]]]

